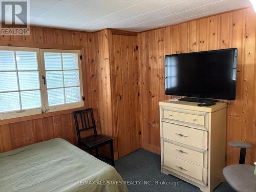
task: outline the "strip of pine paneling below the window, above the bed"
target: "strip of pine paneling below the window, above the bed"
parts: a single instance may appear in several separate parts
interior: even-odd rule
[[[77,144],[72,113],[0,125],[0,136],[1,153],[53,138]]]

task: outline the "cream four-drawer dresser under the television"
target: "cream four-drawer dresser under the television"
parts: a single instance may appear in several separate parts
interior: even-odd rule
[[[162,173],[212,191],[224,181],[227,103],[161,101]]]

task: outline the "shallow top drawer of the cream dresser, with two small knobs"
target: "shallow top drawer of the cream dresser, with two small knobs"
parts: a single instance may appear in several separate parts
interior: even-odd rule
[[[194,114],[187,114],[187,113],[164,110],[163,116],[166,119],[172,119],[172,120],[176,120],[176,121],[183,121],[183,122],[194,123],[194,124],[198,124],[198,125],[205,124],[205,117],[202,115],[194,115]]]

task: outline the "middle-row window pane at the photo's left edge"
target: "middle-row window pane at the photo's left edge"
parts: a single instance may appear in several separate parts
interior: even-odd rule
[[[0,72],[0,92],[4,91],[18,91],[16,72]]]

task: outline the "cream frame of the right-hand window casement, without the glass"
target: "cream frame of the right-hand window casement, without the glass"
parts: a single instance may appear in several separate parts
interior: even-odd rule
[[[40,62],[43,63],[42,66],[42,74],[46,77],[46,69],[45,69],[45,57],[44,53],[76,53],[77,54],[77,61],[78,61],[78,74],[79,74],[79,87],[80,87],[80,102],[74,102],[74,103],[67,103],[67,104],[61,104],[61,105],[54,105],[49,106],[48,103],[48,93],[47,93],[47,78],[46,78],[46,85],[43,86],[43,94],[45,98],[45,112],[55,112],[55,111],[61,111],[61,110],[68,110],[68,109],[74,109],[74,108],[81,108],[84,106],[83,102],[83,86],[82,86],[82,63],[79,59],[79,56],[81,54],[80,50],[61,50],[61,49],[40,49]],[[62,58],[61,58],[62,60]],[[63,71],[63,69],[61,70]],[[65,89],[65,82],[63,82],[63,89]]]

